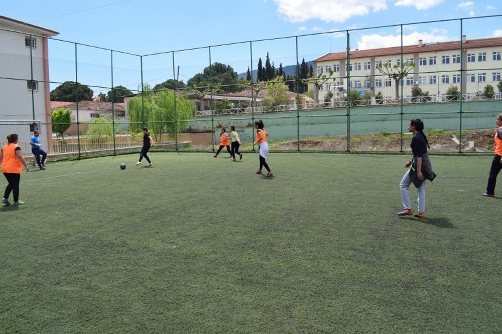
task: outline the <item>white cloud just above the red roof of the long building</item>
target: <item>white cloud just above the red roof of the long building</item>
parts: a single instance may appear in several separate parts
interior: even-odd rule
[[[446,35],[434,35],[431,33],[419,33],[419,32],[413,32],[410,35],[403,35],[403,45],[418,44],[418,40],[422,40],[424,41],[424,43],[433,43],[433,42],[446,42],[449,40],[449,38]],[[380,35],[380,34],[363,35],[357,41],[357,47],[359,50],[388,48],[400,45],[401,45],[401,35]]]

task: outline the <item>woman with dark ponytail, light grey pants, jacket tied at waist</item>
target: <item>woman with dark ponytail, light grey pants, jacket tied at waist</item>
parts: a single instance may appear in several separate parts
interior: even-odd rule
[[[429,141],[424,134],[424,122],[420,119],[412,119],[408,124],[408,131],[413,132],[411,149],[413,159],[405,163],[406,168],[410,168],[404,175],[399,187],[401,188],[401,198],[403,200],[403,211],[398,216],[415,216],[420,219],[425,218],[425,180],[434,180],[436,174],[432,171],[431,160],[427,155]],[[410,185],[417,188],[418,211],[413,213],[410,203]]]

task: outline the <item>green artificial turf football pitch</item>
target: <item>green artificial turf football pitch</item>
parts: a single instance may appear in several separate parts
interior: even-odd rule
[[[409,156],[271,153],[273,178],[227,156],[24,173],[27,204],[0,209],[0,332],[502,330],[490,156],[431,156],[425,220],[396,216]]]

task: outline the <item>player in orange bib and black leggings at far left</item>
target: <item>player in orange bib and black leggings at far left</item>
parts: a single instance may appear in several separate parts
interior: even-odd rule
[[[16,133],[12,133],[7,136],[7,144],[2,147],[2,151],[0,151],[0,163],[2,163],[2,173],[9,182],[5,189],[2,203],[5,205],[11,205],[11,202],[9,202],[9,196],[12,192],[14,193],[14,206],[25,204],[25,202],[19,200],[19,182],[21,181],[23,165],[26,168],[26,172],[30,169],[23,157],[21,147],[18,145],[18,135]]]

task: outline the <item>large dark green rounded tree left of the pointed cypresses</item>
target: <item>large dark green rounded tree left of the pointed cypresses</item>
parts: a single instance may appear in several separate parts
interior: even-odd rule
[[[189,87],[207,87],[221,85],[224,92],[238,92],[238,75],[230,65],[214,63],[197,73],[187,81]]]

